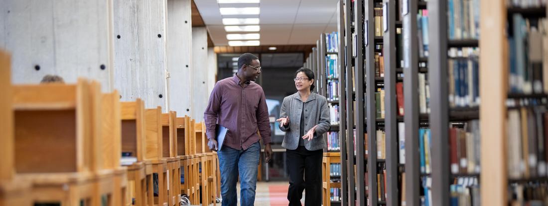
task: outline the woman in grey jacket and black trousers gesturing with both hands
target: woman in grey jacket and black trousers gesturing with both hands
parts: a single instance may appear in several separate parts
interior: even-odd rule
[[[329,129],[327,99],[314,89],[314,73],[300,68],[295,73],[298,92],[283,99],[279,128],[286,132],[282,146],[287,149],[289,168],[289,205],[301,205],[306,188],[305,205],[322,204],[322,156],[326,144],[322,134]],[[303,180],[303,174],[305,180]]]

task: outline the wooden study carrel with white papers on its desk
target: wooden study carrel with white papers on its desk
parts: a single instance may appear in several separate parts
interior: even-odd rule
[[[128,166],[129,203],[145,206],[146,170],[145,170],[145,106],[141,99],[135,102],[121,103],[122,116],[122,152],[136,157],[137,162]],[[150,172],[152,175],[152,171]],[[150,178],[152,179],[152,178]]]

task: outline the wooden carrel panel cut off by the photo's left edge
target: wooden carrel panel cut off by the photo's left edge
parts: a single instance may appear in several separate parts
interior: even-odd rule
[[[12,75],[10,74],[11,56],[0,51],[0,206],[32,205],[30,184],[28,181],[15,179],[15,136],[13,116]]]

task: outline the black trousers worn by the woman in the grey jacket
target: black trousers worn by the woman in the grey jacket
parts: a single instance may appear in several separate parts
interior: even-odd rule
[[[289,206],[301,205],[302,191],[305,189],[305,206],[322,205],[323,150],[310,151],[304,146],[298,146],[296,150],[287,150],[286,154]]]

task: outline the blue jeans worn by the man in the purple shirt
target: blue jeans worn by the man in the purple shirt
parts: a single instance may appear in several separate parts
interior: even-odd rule
[[[252,144],[247,150],[235,150],[224,146],[217,154],[221,172],[222,206],[236,206],[238,196],[236,183],[240,179],[240,205],[251,206],[255,202],[257,168],[261,146]]]

